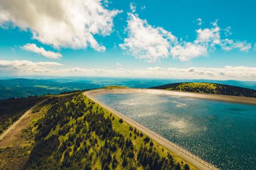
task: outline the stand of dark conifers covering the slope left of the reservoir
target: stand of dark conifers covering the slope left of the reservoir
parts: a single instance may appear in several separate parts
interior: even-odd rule
[[[189,169],[170,154],[160,155],[152,140],[136,129],[130,127],[130,137],[115,131],[114,121],[123,122],[81,94],[51,103],[36,123],[35,145],[24,169]],[[139,150],[133,144],[136,138],[144,140]]]

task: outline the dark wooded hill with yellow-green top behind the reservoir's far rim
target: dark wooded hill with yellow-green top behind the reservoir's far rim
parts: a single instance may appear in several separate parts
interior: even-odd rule
[[[151,87],[153,89],[166,89],[177,91],[190,91],[210,94],[224,94],[246,96],[256,98],[256,90],[238,86],[230,86],[217,83],[170,83],[162,86]]]

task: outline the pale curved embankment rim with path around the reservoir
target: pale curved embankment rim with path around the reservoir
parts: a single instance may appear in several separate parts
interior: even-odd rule
[[[256,104],[256,99],[254,98],[245,98],[239,96],[227,96],[227,95],[217,95],[217,94],[202,94],[202,93],[194,93],[194,92],[178,92],[178,91],[169,91],[169,90],[159,90],[159,89],[132,89],[132,88],[125,88],[125,89],[97,89],[84,92],[84,95],[88,96],[91,100],[101,105],[106,110],[112,112],[113,114],[117,115],[118,117],[122,118],[126,123],[130,124],[133,127],[136,127],[138,130],[143,132],[143,134],[151,137],[159,144],[163,145],[168,150],[174,152],[176,155],[180,156],[184,160],[190,162],[194,166],[199,169],[219,169],[210,163],[204,161],[203,159],[197,157],[196,155],[191,154],[190,152],[184,150],[183,148],[179,147],[177,144],[167,140],[166,138],[160,136],[159,134],[151,131],[148,128],[138,124],[131,118],[119,113],[118,111],[112,109],[111,107],[101,103],[98,101],[94,96],[98,94],[106,94],[106,93],[151,93],[151,94],[165,94],[165,95],[180,95],[180,96],[189,96],[194,98],[203,98],[203,99],[210,99],[210,100],[223,100],[229,102],[241,102],[241,103],[250,103]]]

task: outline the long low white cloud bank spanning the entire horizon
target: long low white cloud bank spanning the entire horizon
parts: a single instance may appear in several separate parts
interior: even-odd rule
[[[247,80],[254,81],[256,67],[225,66],[225,67],[188,67],[163,68],[147,67],[144,69],[101,69],[71,67],[63,68],[57,62],[31,62],[27,60],[0,60],[0,70],[3,74],[11,72],[15,75],[48,75],[48,76],[105,76],[114,77],[147,77],[147,78],[178,78],[178,79],[215,79],[215,80]]]

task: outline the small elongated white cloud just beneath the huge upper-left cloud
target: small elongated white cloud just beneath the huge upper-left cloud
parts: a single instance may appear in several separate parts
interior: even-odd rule
[[[59,52],[52,52],[52,51],[46,51],[43,47],[38,47],[36,44],[27,43],[26,45],[21,46],[23,50],[30,51],[33,53],[40,54],[42,56],[45,56],[50,59],[58,59],[62,57],[62,55]]]

